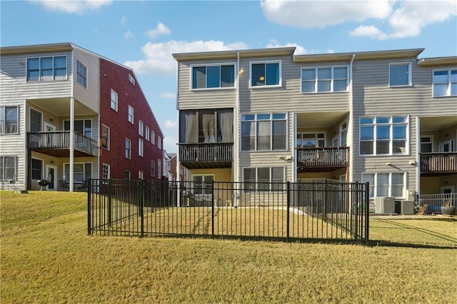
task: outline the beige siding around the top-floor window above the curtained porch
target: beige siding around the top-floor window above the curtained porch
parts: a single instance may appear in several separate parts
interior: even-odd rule
[[[236,87],[233,88],[211,88],[191,90],[191,66],[196,64],[235,64],[235,86],[236,86],[236,61],[193,61],[179,63],[179,109],[199,108],[233,108],[236,105]]]

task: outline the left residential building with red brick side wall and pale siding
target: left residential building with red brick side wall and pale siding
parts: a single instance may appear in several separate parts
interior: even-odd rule
[[[155,175],[163,136],[132,69],[71,43],[0,52],[1,189]]]

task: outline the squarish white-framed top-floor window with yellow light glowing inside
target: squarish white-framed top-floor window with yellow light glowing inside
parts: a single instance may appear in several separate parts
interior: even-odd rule
[[[281,61],[251,62],[251,86],[281,86]]]

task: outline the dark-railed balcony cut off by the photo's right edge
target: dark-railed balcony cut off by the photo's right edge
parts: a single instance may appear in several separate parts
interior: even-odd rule
[[[421,153],[421,176],[457,173],[457,152]]]

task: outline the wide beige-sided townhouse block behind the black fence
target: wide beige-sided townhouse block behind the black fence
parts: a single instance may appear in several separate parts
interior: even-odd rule
[[[189,181],[362,181],[371,199],[398,201],[456,192],[457,56],[294,51],[174,54]]]

